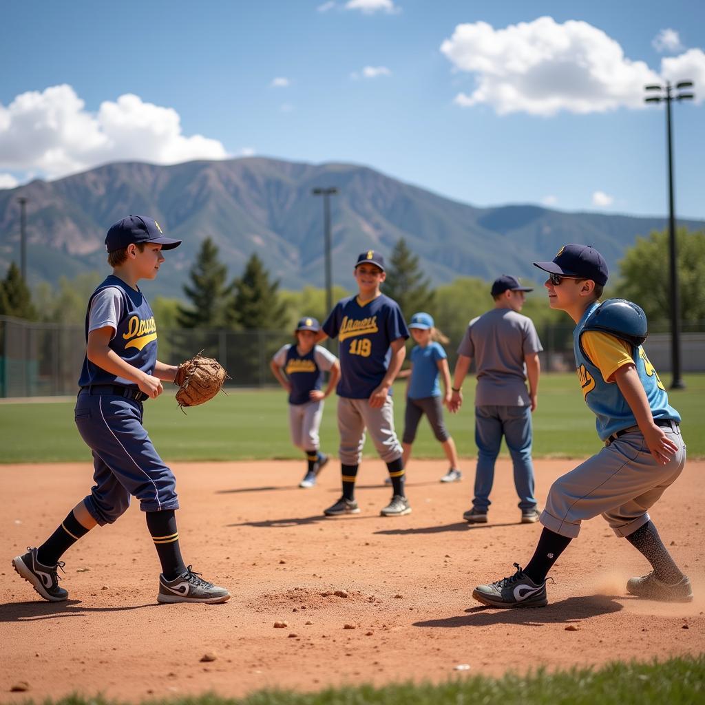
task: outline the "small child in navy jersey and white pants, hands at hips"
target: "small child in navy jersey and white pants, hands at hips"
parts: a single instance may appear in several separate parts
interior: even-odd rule
[[[313,487],[317,475],[328,462],[328,456],[319,450],[318,431],[323,417],[323,400],[336,388],[341,376],[338,358],[316,345],[316,334],[320,329],[316,319],[303,317],[294,331],[296,345],[283,345],[269,363],[272,374],[289,393],[291,441],[306,453],[307,469],[300,487]],[[321,391],[324,372],[331,373],[325,392]]]

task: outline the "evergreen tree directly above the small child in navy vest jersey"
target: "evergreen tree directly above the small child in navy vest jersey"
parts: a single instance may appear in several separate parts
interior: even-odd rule
[[[232,288],[234,296],[228,319],[235,329],[281,331],[286,328],[286,303],[278,294],[279,282],[269,281],[269,272],[256,254],[247,260],[243,276],[235,279]]]

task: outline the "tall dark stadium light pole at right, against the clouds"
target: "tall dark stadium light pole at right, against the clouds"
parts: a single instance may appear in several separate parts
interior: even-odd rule
[[[673,198],[673,136],[671,129],[670,104],[676,100],[690,100],[692,81],[679,81],[673,86],[666,81],[644,86],[646,103],[666,103],[666,144],[668,145],[668,280],[670,299],[670,361],[671,389],[683,389],[685,384],[680,375],[680,292],[678,290],[678,250],[675,242],[675,206]]]

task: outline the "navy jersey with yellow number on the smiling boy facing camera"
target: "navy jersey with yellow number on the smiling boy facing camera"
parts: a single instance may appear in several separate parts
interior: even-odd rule
[[[341,380],[336,391],[349,399],[367,399],[379,387],[391,360],[390,344],[409,337],[397,302],[384,294],[364,305],[357,296],[339,301],[323,331],[340,342]]]

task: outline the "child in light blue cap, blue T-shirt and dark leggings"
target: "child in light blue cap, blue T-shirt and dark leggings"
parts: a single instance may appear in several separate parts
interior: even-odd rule
[[[450,371],[448,355],[439,341],[448,343],[448,338],[434,328],[434,319],[427,313],[415,313],[409,324],[416,345],[411,350],[411,370],[407,378],[406,412],[404,415],[404,435],[401,446],[402,460],[407,466],[411,446],[421,417],[425,414],[434,431],[436,440],[443,446],[450,467],[441,482],[460,482],[462,472],[458,470],[458,453],[455,443],[443,424],[443,404],[450,401]],[[443,375],[445,393],[441,396],[439,373]]]

